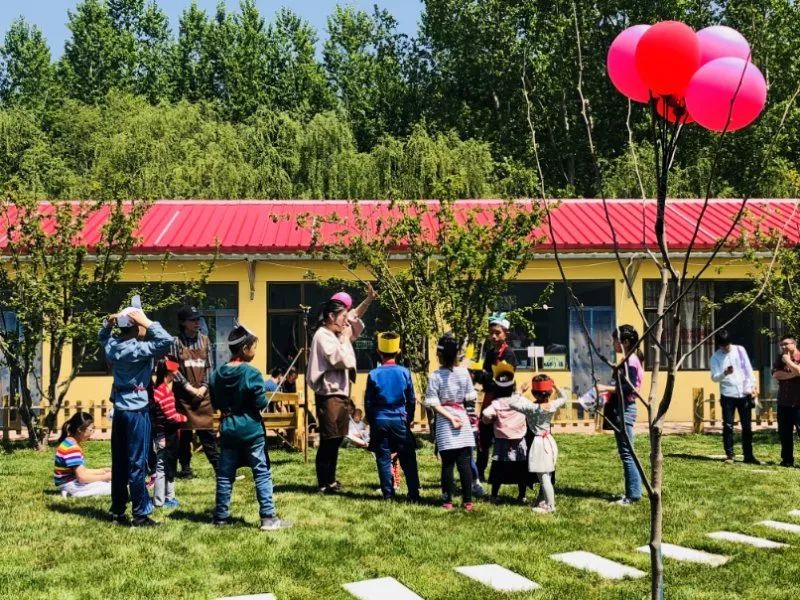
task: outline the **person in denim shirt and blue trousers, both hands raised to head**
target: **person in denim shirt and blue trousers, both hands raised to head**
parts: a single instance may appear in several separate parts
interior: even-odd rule
[[[134,527],[158,525],[150,518],[153,503],[147,493],[147,455],[150,438],[148,386],[154,360],[169,352],[172,336],[133,302],[121,313],[106,319],[98,334],[100,346],[111,366],[114,384],[111,400],[111,519],[127,524],[125,511],[131,501]],[[112,335],[114,327],[119,335]]]

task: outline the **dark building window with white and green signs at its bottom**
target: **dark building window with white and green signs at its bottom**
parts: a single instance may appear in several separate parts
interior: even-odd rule
[[[545,371],[566,370],[574,360],[572,355],[578,339],[585,339],[580,319],[575,319],[574,302],[567,293],[567,287],[558,282],[553,286],[549,297],[544,296],[548,282],[513,282],[508,286],[508,294],[501,300],[495,310],[508,311],[532,304],[546,304],[547,309],[531,310],[527,316],[534,325],[533,335],[526,328],[512,323],[509,332],[509,345],[517,358],[521,369],[541,369]],[[584,313],[610,311],[614,312],[613,281],[575,281],[571,282],[572,291],[584,307]],[[587,324],[592,338],[600,343],[609,337],[610,332],[595,331],[593,323],[600,320],[589,320]],[[579,331],[576,328],[581,328]],[[596,338],[596,339],[595,339]],[[534,350],[536,348],[536,350]],[[538,350],[541,349],[541,350]]]

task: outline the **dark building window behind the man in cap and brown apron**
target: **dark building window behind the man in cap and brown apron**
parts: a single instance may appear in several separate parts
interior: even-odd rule
[[[108,313],[119,310],[125,299],[134,290],[141,290],[147,294],[148,284],[143,283],[118,283],[106,299],[103,307]],[[213,360],[215,365],[222,364],[230,358],[228,352],[228,333],[233,329],[234,322],[239,313],[239,284],[238,283],[209,283],[204,287],[205,299],[186,297],[182,302],[172,304],[161,310],[148,313],[153,321],[158,321],[168,332],[178,334],[178,310],[183,304],[197,306],[202,314],[200,330],[208,335]],[[87,351],[80,369],[81,375],[107,375],[109,374],[103,351],[94,341],[92,350]],[[73,361],[77,358],[79,348],[73,345]]]

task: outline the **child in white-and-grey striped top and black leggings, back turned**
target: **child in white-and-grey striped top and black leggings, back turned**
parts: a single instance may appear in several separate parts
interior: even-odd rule
[[[436,411],[436,445],[442,457],[442,508],[453,510],[453,467],[456,466],[463,507],[469,512],[474,508],[470,460],[475,438],[464,404],[474,401],[477,394],[467,370],[455,366],[458,342],[454,337],[445,335],[439,340],[436,356],[441,368],[428,381],[425,406]]]

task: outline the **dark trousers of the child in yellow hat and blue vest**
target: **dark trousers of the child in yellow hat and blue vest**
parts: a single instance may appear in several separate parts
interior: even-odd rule
[[[392,452],[397,452],[400,467],[406,476],[409,498],[419,498],[419,471],[414,436],[405,419],[376,419],[370,423],[370,449],[375,452],[378,478],[384,498],[394,497]]]

